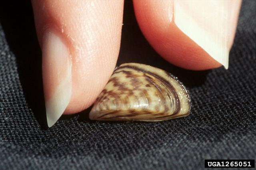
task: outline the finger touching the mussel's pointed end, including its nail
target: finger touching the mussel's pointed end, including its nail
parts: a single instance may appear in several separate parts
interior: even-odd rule
[[[114,70],[123,1],[33,0],[48,126],[89,107]]]

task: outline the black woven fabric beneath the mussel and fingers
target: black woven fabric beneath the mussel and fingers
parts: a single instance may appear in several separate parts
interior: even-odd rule
[[[256,1],[242,4],[229,69],[208,71],[160,58],[126,1],[118,64],[145,63],[178,76],[190,91],[191,115],[111,123],[88,120],[87,110],[63,116],[48,130],[32,8],[29,1],[15,4],[0,5],[1,170],[198,170],[204,159],[255,159]]]

